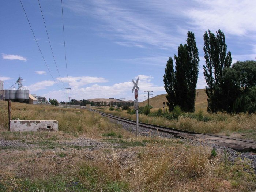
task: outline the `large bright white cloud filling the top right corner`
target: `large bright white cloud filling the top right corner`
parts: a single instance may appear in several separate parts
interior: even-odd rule
[[[233,35],[254,33],[256,1],[252,0],[195,0],[196,6],[187,8],[184,15],[192,20],[191,24],[212,32],[221,29]]]

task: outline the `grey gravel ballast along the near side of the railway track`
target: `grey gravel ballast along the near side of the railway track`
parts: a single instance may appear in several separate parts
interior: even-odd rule
[[[122,125],[122,127],[124,129],[126,129],[127,131],[131,131],[136,133],[136,125],[132,125],[132,124],[128,124],[128,123],[124,123],[121,121],[117,121],[114,119],[110,118],[110,121],[112,121],[113,123],[117,123]],[[177,139],[174,138],[174,135],[170,135],[168,133],[163,133],[163,132],[158,132],[152,129],[147,129],[144,127],[139,127],[139,134],[142,136],[160,136],[163,138],[173,138],[173,139]],[[244,153],[239,153],[231,148],[227,148],[227,147],[223,147],[223,146],[218,146],[215,144],[210,144],[210,143],[205,143],[205,142],[199,142],[199,141],[195,141],[195,140],[190,140],[190,139],[183,139],[184,142],[187,142],[188,144],[192,145],[192,146],[208,146],[211,148],[215,148],[217,154],[221,154],[222,157],[224,156],[224,154],[226,153],[228,156],[229,161],[234,162],[234,160],[237,157],[241,157],[241,159],[249,159],[251,161],[251,167],[254,169],[255,173],[256,173],[256,153],[252,153],[252,152],[244,152]]]

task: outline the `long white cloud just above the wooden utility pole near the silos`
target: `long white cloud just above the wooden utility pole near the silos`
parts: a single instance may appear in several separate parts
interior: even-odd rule
[[[60,78],[57,78],[60,81]],[[69,82],[69,86],[73,88],[82,87],[86,84],[90,83],[105,83],[108,82],[105,78],[102,77],[88,77],[88,76],[81,76],[81,77],[72,77],[69,76],[61,78],[61,80],[65,83]]]

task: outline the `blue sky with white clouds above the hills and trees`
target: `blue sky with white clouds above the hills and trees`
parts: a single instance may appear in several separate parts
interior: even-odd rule
[[[59,102],[66,101],[64,87],[71,88],[70,99],[134,100],[132,79],[139,77],[143,101],[144,91],[166,93],[167,60],[186,43],[188,31],[199,50],[197,89],[206,86],[205,31],[223,31],[233,63],[256,57],[255,0],[63,0],[63,20],[61,0],[40,0],[50,44],[38,1],[21,1],[35,38],[20,1],[0,1],[4,89],[20,76],[30,94]]]

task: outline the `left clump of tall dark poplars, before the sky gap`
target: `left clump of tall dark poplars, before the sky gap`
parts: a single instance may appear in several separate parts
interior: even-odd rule
[[[173,71],[173,60],[170,57],[163,76],[165,90],[168,93],[166,96],[167,106],[170,111],[176,105],[186,112],[195,110],[196,83],[200,60],[195,35],[191,31],[188,31],[187,34],[187,44],[180,44],[178,55],[174,55],[175,72]]]

